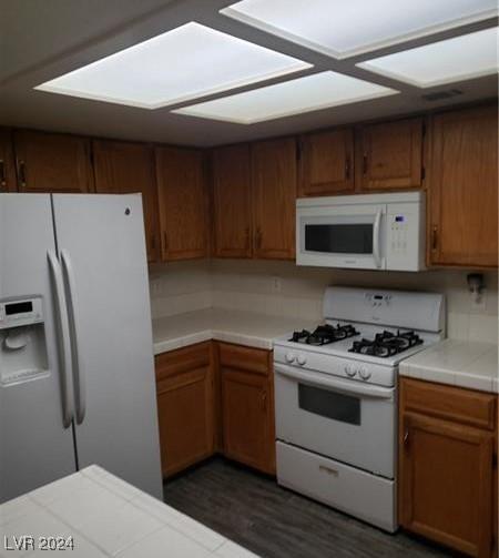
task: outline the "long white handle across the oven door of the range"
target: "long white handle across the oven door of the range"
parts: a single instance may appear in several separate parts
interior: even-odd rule
[[[335,392],[342,392],[346,395],[357,395],[365,398],[389,399],[394,400],[393,387],[380,387],[371,384],[359,384],[355,379],[342,379],[334,376],[328,376],[320,372],[308,372],[296,369],[292,366],[283,364],[274,364],[274,369],[277,374],[286,376],[291,379],[302,381],[317,387],[325,387]]]

